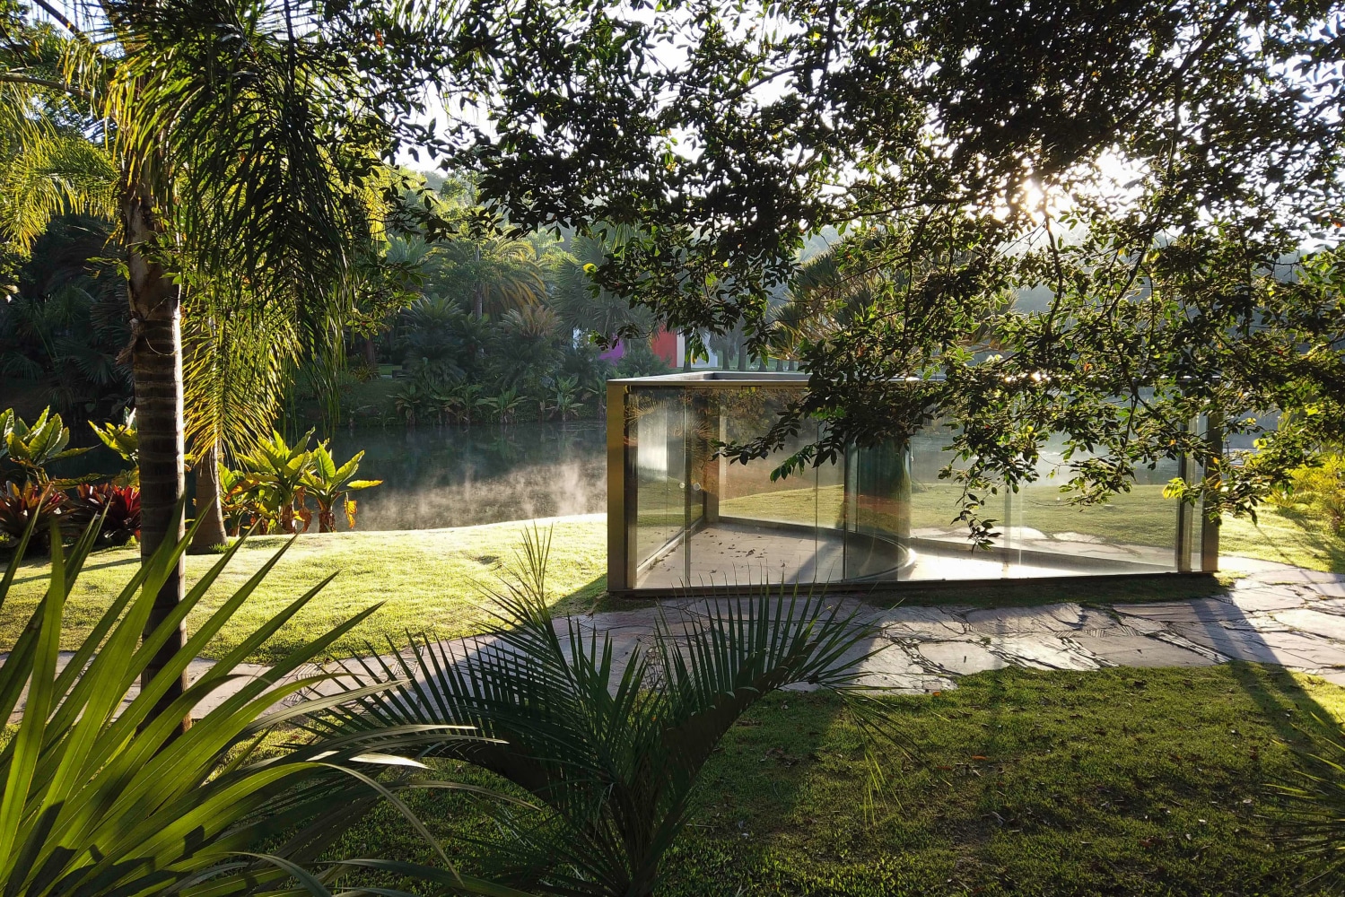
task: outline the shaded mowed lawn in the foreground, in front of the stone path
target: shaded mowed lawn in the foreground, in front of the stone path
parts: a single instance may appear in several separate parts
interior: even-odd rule
[[[784,693],[712,757],[662,897],[1213,897],[1338,893],[1282,849],[1267,784],[1306,763],[1341,689],[1254,664],[967,676],[885,699],[904,748],[866,811],[865,740],[841,702]],[[443,777],[504,788],[461,764]],[[413,792],[464,871],[507,835],[482,797]],[[516,822],[527,822],[518,815]],[[382,807],[332,855],[434,862]],[[385,882],[386,884],[386,882]],[[402,882],[404,885],[408,882]]]

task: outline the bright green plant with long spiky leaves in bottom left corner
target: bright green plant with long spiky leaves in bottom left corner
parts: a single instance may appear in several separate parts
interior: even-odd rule
[[[26,533],[20,545],[31,535],[31,530]],[[387,749],[414,750],[428,736],[434,741],[461,736],[443,728],[433,733],[370,730],[352,738],[292,745],[278,757],[257,756],[258,745],[277,726],[331,703],[330,698],[297,703],[286,698],[327,680],[325,675],[299,671],[375,611],[369,608],[297,647],[268,675],[241,676],[238,664],[325,581],[243,639],[184,694],[172,697],[187,664],[229,624],[284,555],[284,547],[210,613],[191,639],[141,682],[139,693],[133,687],[151,658],[160,654],[242,542],[204,574],[174,615],[145,631],[155,597],[187,547],[186,539],[163,543],[59,666],[66,598],[95,541],[97,526],[91,526],[66,557],[52,529],[47,593],[0,666],[0,718],[11,718],[27,686],[23,718],[0,750],[0,781],[5,783],[0,793],[0,888],[16,897],[129,897],[178,893],[208,880],[210,893],[242,894],[297,878],[315,894],[328,893],[321,881],[330,881],[331,874],[315,875],[299,863],[331,843],[379,793],[405,806],[373,779],[389,763],[408,763],[390,757]],[[0,607],[16,572],[17,557],[0,580]],[[178,721],[198,702],[225,687],[229,693],[214,709],[190,729],[178,730]],[[359,687],[338,699],[358,699],[381,687]],[[277,839],[281,832],[285,836]],[[447,870],[440,874],[452,877]],[[500,893],[471,880],[465,889]]]

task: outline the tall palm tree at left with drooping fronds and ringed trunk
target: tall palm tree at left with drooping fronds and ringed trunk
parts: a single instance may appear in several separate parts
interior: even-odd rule
[[[370,227],[363,188],[387,144],[378,102],[363,100],[375,89],[391,97],[395,87],[354,70],[351,61],[371,52],[367,32],[351,27],[348,16],[360,15],[354,7],[332,13],[303,0],[101,0],[81,27],[47,0],[36,5],[65,38],[58,66],[50,52],[7,42],[0,81],[8,120],[23,126],[22,155],[42,161],[78,145],[23,112],[73,98],[86,116],[81,130],[100,136],[89,147],[102,153],[112,188],[65,180],[47,192],[11,195],[24,208],[5,217],[24,222],[20,241],[74,204],[117,222],[132,323],[124,355],[141,440],[141,551],[149,557],[184,531],[182,284],[229,277],[252,301],[300,321],[311,344],[330,342],[331,321],[351,304],[342,285],[354,262],[352,235]],[[373,81],[377,87],[363,86]],[[147,631],[172,615],[183,574],[179,562]],[[163,656],[183,641],[179,631]],[[147,680],[157,670],[151,664]]]

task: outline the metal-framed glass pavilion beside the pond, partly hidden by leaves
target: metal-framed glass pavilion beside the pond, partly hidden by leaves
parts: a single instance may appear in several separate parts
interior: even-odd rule
[[[1143,471],[1130,492],[1079,507],[1060,491],[1063,444],[1038,479],[987,512],[998,537],[972,547],[956,522],[962,488],[940,479],[944,436],[851,446],[771,479],[816,440],[816,425],[748,464],[720,442],[763,434],[806,389],[800,374],[674,374],[608,383],[608,588],[613,592],[772,582],[905,582],[1209,570],[1217,530],[1162,495],[1181,461]]]

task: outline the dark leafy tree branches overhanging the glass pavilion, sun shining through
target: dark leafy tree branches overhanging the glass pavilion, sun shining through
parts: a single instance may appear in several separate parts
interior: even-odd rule
[[[1206,476],[1174,491],[1210,512],[1338,441],[1338,3],[660,9],[502,0],[492,128],[445,145],[521,227],[631,226],[596,282],[753,354],[806,238],[853,235],[794,347],[808,395],[736,457],[807,416],[785,472],[943,420],[985,535],[972,495],[1036,477],[1053,432],[1076,498],[1186,455]],[[1225,463],[1228,433],[1260,451]]]

